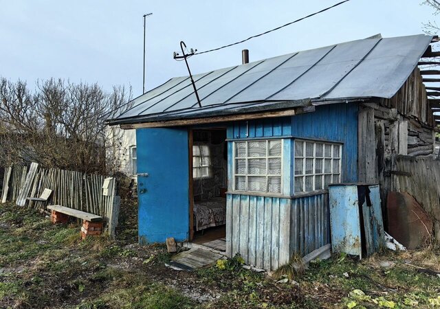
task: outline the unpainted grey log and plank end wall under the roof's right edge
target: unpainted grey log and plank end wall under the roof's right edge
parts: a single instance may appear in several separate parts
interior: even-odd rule
[[[392,98],[362,103],[358,128],[359,181],[379,181],[385,160],[392,154],[433,158],[434,124],[419,68],[412,71]]]

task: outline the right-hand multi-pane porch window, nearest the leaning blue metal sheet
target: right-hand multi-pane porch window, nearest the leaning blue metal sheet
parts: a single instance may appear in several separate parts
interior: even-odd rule
[[[325,190],[341,182],[342,145],[295,140],[295,193]]]

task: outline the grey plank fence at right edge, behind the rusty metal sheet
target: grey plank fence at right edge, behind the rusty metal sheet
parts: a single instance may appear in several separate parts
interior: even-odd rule
[[[440,241],[440,161],[426,157],[392,155],[381,177],[382,201],[390,191],[408,192],[434,222],[434,236]]]

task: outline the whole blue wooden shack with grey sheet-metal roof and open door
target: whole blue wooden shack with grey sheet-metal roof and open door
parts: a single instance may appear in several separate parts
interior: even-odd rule
[[[411,124],[391,136],[405,121],[432,130],[426,93],[400,95],[425,90],[431,41],[367,38],[201,73],[201,107],[188,76],[135,98],[108,122],[137,131],[140,243],[225,223],[228,256],[265,269],[328,244],[328,186],[377,181],[378,128],[384,152],[404,151]]]

